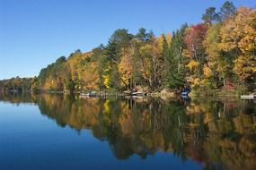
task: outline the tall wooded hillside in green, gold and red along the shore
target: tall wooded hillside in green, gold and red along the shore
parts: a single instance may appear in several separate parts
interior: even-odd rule
[[[3,84],[3,83],[2,83]],[[155,36],[115,30],[106,46],[76,50],[40,71],[31,89],[249,90],[256,87],[256,10],[235,9],[225,2],[209,7],[202,22],[183,24],[170,34]]]

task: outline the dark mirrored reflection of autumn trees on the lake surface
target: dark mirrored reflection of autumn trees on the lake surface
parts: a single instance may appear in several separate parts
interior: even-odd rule
[[[172,152],[204,163],[205,169],[256,169],[256,106],[229,99],[77,98],[4,95],[0,100],[36,103],[61,126],[92,130],[115,157],[146,158]]]

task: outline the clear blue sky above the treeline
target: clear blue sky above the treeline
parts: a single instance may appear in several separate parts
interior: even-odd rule
[[[117,29],[155,35],[198,23],[225,0],[0,0],[0,80],[29,77],[75,49],[106,44]],[[234,0],[256,7],[255,0]]]

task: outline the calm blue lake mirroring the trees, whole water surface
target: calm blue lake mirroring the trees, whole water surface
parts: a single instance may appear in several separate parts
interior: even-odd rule
[[[1,94],[0,169],[256,169],[256,104]]]

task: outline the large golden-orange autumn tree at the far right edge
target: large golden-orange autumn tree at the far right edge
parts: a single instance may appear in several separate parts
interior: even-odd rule
[[[220,49],[234,54],[234,72],[240,82],[255,81],[256,11],[241,7],[220,30]]]

